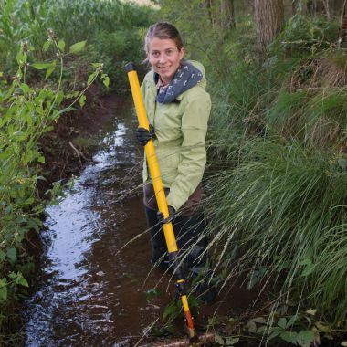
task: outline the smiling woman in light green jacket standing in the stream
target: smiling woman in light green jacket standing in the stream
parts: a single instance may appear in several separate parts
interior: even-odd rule
[[[142,146],[153,139],[177,244],[184,255],[184,265],[198,275],[206,268],[207,239],[200,203],[211,109],[204,67],[196,61],[184,60],[180,33],[169,23],[149,28],[145,51],[152,70],[143,80],[142,96],[151,125],[150,131],[139,128],[136,136]],[[165,267],[163,216],[158,213],[146,160],[143,182],[152,263]]]

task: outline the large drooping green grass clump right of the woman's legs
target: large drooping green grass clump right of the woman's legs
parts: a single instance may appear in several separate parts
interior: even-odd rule
[[[326,241],[329,230],[345,231],[347,173],[338,160],[298,142],[257,139],[244,146],[236,167],[209,186],[216,192],[208,198],[214,207],[209,212],[212,243],[223,239],[229,245],[217,262],[227,263],[229,278],[261,269],[264,279],[278,282],[290,299],[304,291],[304,307],[314,305],[330,321],[345,324],[340,304],[347,304],[347,273],[340,266],[343,259],[331,261],[346,250],[340,248],[342,233],[331,245]],[[234,248],[237,258],[230,258]],[[331,286],[339,276],[339,285]],[[340,304],[331,305],[335,301]]]

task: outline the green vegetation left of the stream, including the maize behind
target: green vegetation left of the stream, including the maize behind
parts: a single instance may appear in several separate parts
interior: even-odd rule
[[[0,0],[0,9],[0,344],[17,345],[7,333],[27,296],[32,234],[47,204],[38,191],[47,180],[43,140],[62,115],[84,106],[95,81],[124,89],[122,65],[140,56],[151,9],[87,0]],[[58,191],[53,184],[46,196]]]

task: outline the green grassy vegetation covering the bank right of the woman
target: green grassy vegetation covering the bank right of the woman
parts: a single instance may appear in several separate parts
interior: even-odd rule
[[[287,13],[259,58],[246,5],[236,8],[236,27],[220,33],[208,7],[192,23],[189,5],[161,3],[185,37],[201,22],[206,33],[187,50],[205,63],[213,95],[205,205],[221,285],[246,278],[249,289],[274,295],[272,316],[252,331],[263,339],[310,345],[346,331],[346,50],[338,19]],[[290,341],[276,313],[284,304],[297,323],[298,312],[314,309],[318,324],[289,324]],[[295,340],[299,331],[308,340]]]

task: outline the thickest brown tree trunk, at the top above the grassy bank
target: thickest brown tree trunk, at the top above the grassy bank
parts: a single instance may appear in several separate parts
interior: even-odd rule
[[[262,60],[270,44],[284,26],[283,0],[255,0],[257,46]]]

